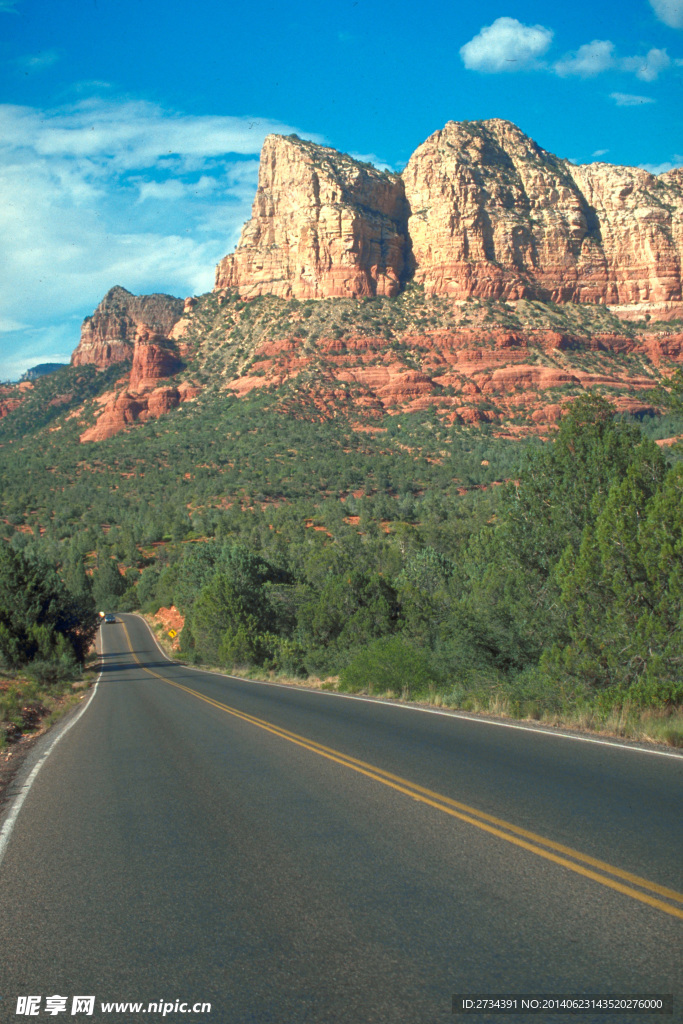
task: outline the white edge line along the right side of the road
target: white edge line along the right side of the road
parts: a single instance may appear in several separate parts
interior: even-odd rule
[[[164,660],[168,662],[169,665],[175,665],[178,669],[186,669],[188,672],[200,672],[202,675],[217,676],[218,678],[222,676],[224,679],[237,679],[241,683],[253,683],[255,686],[278,686],[283,690],[300,690],[305,693],[315,693],[318,696],[324,697],[340,697],[344,700],[361,700],[365,703],[375,705],[381,703],[387,708],[395,708],[397,711],[419,711],[424,715],[440,715],[441,718],[457,718],[462,722],[476,722],[478,725],[494,725],[498,726],[500,729],[519,729],[521,732],[532,732],[535,735],[540,733],[543,736],[553,736],[554,739],[574,739],[579,743],[598,743],[600,746],[609,746],[612,750],[631,751],[637,754],[654,754],[660,758],[674,758],[678,761],[683,761],[683,755],[677,754],[675,751],[653,751],[650,750],[649,746],[637,746],[632,743],[622,742],[618,739],[610,740],[598,739],[597,736],[575,736],[571,732],[556,732],[554,729],[544,729],[532,725],[521,725],[521,723],[518,722],[497,722],[490,718],[479,718],[476,715],[463,715],[457,711],[440,711],[438,708],[420,708],[417,705],[396,703],[393,700],[385,700],[382,697],[360,697],[353,693],[336,693],[334,690],[316,690],[310,686],[291,686],[287,683],[273,683],[265,679],[245,679],[244,676],[228,676],[227,673],[224,672],[207,672],[206,669],[197,669],[193,665],[179,665],[177,662],[170,658],[161,648],[157,637],[152,632],[150,624],[136,612],[131,613],[135,615],[136,618],[139,618],[140,622],[146,627],[150,632],[150,636],[157,645],[157,649]]]

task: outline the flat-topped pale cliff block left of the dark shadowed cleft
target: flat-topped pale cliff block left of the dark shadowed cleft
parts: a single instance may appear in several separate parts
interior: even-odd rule
[[[252,218],[218,264],[216,288],[248,298],[395,295],[407,272],[408,212],[397,175],[268,135]]]

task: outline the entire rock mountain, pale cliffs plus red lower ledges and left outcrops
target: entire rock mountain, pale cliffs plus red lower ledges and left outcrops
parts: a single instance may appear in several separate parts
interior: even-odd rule
[[[433,407],[512,435],[586,389],[651,411],[683,361],[682,198],[683,171],[574,167],[500,120],[449,122],[400,176],[268,136],[213,293],[117,287],[86,317],[72,364],[123,375],[81,440],[205,388],[358,426]]]

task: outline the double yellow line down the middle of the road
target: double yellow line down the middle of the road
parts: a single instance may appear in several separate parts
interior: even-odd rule
[[[453,818],[466,821],[467,824],[474,825],[476,828],[496,836],[498,839],[503,839],[507,843],[521,847],[521,849],[527,850],[529,853],[535,853],[538,857],[543,857],[545,860],[550,860],[555,864],[566,867],[577,874],[583,874],[584,878],[599,882],[600,885],[607,886],[607,888],[623,893],[625,896],[630,896],[641,903],[647,903],[649,906],[653,906],[657,910],[663,910],[673,918],[683,920],[683,907],[677,905],[683,904],[683,893],[676,892],[674,889],[667,889],[666,886],[649,882],[638,874],[632,874],[631,871],[625,871],[613,864],[608,864],[603,860],[580,853],[578,850],[571,849],[571,847],[545,839],[543,836],[539,836],[526,828],[520,828],[518,825],[514,825],[502,818],[497,818],[492,814],[486,814],[484,811],[479,811],[475,807],[461,804],[457,800],[452,800],[450,797],[444,797],[433,790],[428,790],[423,785],[418,785],[416,782],[411,782],[400,775],[394,775],[392,772],[378,768],[367,761],[360,761],[358,758],[350,757],[350,755],[343,754],[332,746],[326,746],[313,739],[309,739],[307,736],[302,736],[297,732],[291,732],[289,729],[273,725],[272,722],[268,722],[265,719],[257,718],[255,715],[248,715],[246,712],[231,708],[220,700],[214,700],[213,697],[208,697],[204,693],[191,689],[189,686],[175,683],[172,679],[168,679],[166,676],[147,669],[137,657],[130,642],[128,630],[125,624],[122,625],[126,633],[130,652],[140,668],[148,673],[148,675],[161,679],[164,683],[168,683],[169,686],[175,686],[176,689],[184,690],[185,693],[197,697],[198,700],[203,700],[205,703],[211,705],[212,708],[216,708],[226,715],[232,715],[234,718],[239,718],[249,725],[257,726],[259,729],[270,732],[273,736],[286,739],[290,743],[295,743],[297,746],[310,751],[311,754],[317,754],[319,757],[327,758],[328,761],[333,761],[335,764],[342,765],[344,768],[350,768],[351,771],[365,775],[367,778],[381,782],[383,785],[395,790],[396,793],[411,797],[413,800],[418,801],[418,803],[426,804],[428,807],[433,807],[435,810],[441,811],[443,814],[449,814]],[[671,902],[666,902],[667,900]]]

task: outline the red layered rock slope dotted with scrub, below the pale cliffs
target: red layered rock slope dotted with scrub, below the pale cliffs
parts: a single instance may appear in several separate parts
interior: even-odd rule
[[[215,393],[270,390],[290,416],[356,425],[433,408],[452,423],[545,431],[589,389],[654,412],[649,391],[683,361],[683,325],[624,323],[604,306],[426,296],[244,302],[200,297],[175,328]]]

